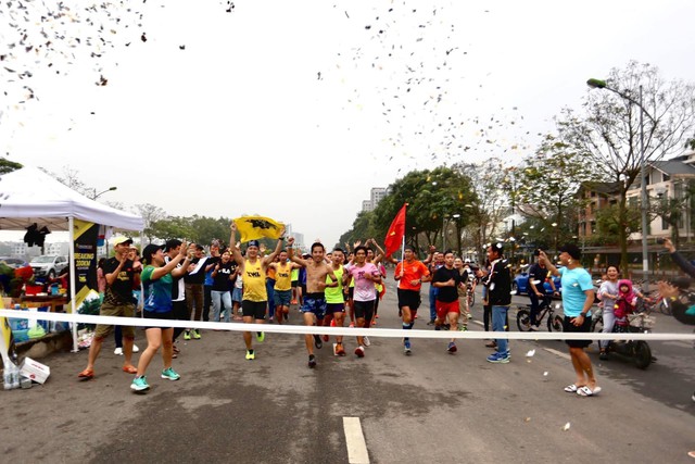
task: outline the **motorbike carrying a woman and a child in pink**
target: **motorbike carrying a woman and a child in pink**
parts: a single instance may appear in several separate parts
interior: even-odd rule
[[[642,311],[628,314],[626,322],[616,322],[612,327],[614,334],[650,334],[656,319],[649,315],[648,311]],[[597,311],[592,318],[591,330],[601,331],[603,329],[603,310]],[[620,354],[624,358],[631,358],[637,368],[646,369],[652,364],[652,349],[649,343],[644,340],[630,340],[618,338],[610,340],[606,352]]]

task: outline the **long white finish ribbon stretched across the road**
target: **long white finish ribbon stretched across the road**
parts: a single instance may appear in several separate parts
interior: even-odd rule
[[[358,327],[318,327],[303,325],[278,325],[278,324],[244,324],[216,323],[216,322],[193,322],[193,321],[172,321],[151,319],[143,317],[119,317],[119,316],[98,316],[89,314],[72,315],[67,313],[42,313],[33,311],[0,310],[0,317],[36,319],[36,321],[58,321],[66,323],[100,324],[100,325],[126,325],[136,327],[180,327],[216,329],[229,331],[264,331],[266,334],[295,334],[295,335],[329,335],[329,336],[365,336],[386,338],[432,338],[432,339],[508,339],[508,340],[693,340],[695,334],[601,334],[601,333],[523,333],[523,331],[482,331],[482,330],[421,330],[421,329],[396,329],[396,328],[358,328]]]

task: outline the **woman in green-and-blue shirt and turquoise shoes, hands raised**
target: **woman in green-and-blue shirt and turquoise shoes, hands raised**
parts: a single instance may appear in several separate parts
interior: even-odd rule
[[[162,244],[150,243],[142,250],[142,259],[147,264],[144,269],[142,269],[142,286],[144,288],[142,317],[146,319],[175,318],[174,311],[172,311],[174,308],[172,303],[172,287],[174,283],[172,271],[176,268],[178,263],[184,261],[187,252],[185,246],[180,247],[176,258],[165,264],[164,253],[162,252],[163,247]],[[168,380],[178,380],[181,378],[181,376],[172,368],[174,328],[148,326],[144,328],[144,334],[148,339],[148,348],[146,348],[140,355],[137,376],[132,380],[132,384],[130,384],[130,388],[135,391],[150,389],[144,373],[160,347],[163,347],[162,362],[164,369],[162,371],[162,378]]]

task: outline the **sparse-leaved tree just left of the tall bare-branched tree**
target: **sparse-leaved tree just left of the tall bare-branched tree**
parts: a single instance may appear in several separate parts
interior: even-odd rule
[[[579,214],[583,202],[577,191],[583,181],[595,178],[592,166],[585,152],[546,135],[533,155],[523,160],[519,168],[509,171],[514,188],[508,190],[516,211],[536,220],[535,231],[552,231],[555,250],[577,234],[577,221],[568,218]],[[509,184],[505,179],[505,185]],[[532,230],[529,234],[534,239]]]

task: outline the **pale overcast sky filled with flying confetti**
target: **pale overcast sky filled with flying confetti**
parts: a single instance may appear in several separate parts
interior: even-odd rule
[[[590,77],[636,60],[695,80],[691,0],[7,3],[3,156],[128,211],[260,214],[328,244],[371,187],[532,154]]]

